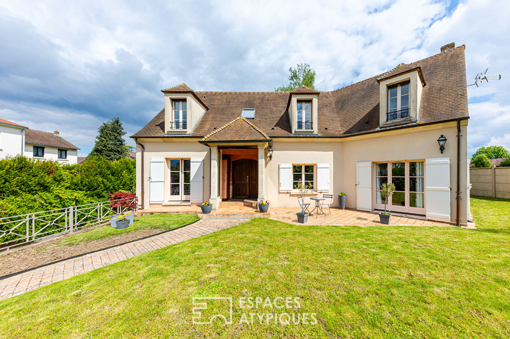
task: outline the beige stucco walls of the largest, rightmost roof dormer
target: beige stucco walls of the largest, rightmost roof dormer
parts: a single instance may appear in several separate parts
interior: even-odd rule
[[[421,104],[423,85],[418,70],[416,70],[379,82],[379,102],[385,103],[379,106],[379,125],[381,127],[399,124],[399,122],[386,122],[386,114],[388,112],[388,86],[406,80],[409,80],[409,115],[412,122],[418,121],[418,111]],[[409,123],[409,121],[400,122],[400,124],[402,123]]]

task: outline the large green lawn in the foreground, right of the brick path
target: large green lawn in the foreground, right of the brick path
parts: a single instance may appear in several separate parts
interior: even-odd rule
[[[1,301],[0,336],[508,337],[510,201],[472,210],[479,230],[254,219]],[[193,325],[194,296],[233,296],[234,324]],[[248,296],[300,297],[317,323],[239,324],[285,312]]]

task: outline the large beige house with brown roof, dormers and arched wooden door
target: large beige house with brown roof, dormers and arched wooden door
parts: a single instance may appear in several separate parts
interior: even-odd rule
[[[312,195],[333,194],[334,206],[344,191],[347,207],[372,211],[384,210],[380,184],[393,182],[389,211],[454,222],[458,180],[466,223],[464,48],[452,43],[331,92],[162,90],[165,108],[132,135],[137,195],[145,207],[211,201],[217,209],[231,199],[298,207],[301,180]]]

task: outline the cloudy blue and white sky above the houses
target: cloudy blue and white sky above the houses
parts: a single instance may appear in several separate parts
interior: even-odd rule
[[[290,66],[308,63],[329,91],[454,41],[466,44],[468,83],[487,67],[502,74],[468,88],[469,156],[510,149],[509,14],[507,0],[1,0],[0,118],[58,129],[86,154],[101,122],[120,117],[127,138],[176,84],[272,91]]]

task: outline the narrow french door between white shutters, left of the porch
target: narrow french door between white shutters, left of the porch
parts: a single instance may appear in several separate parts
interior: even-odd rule
[[[171,201],[190,200],[190,159],[168,159],[169,199]]]

